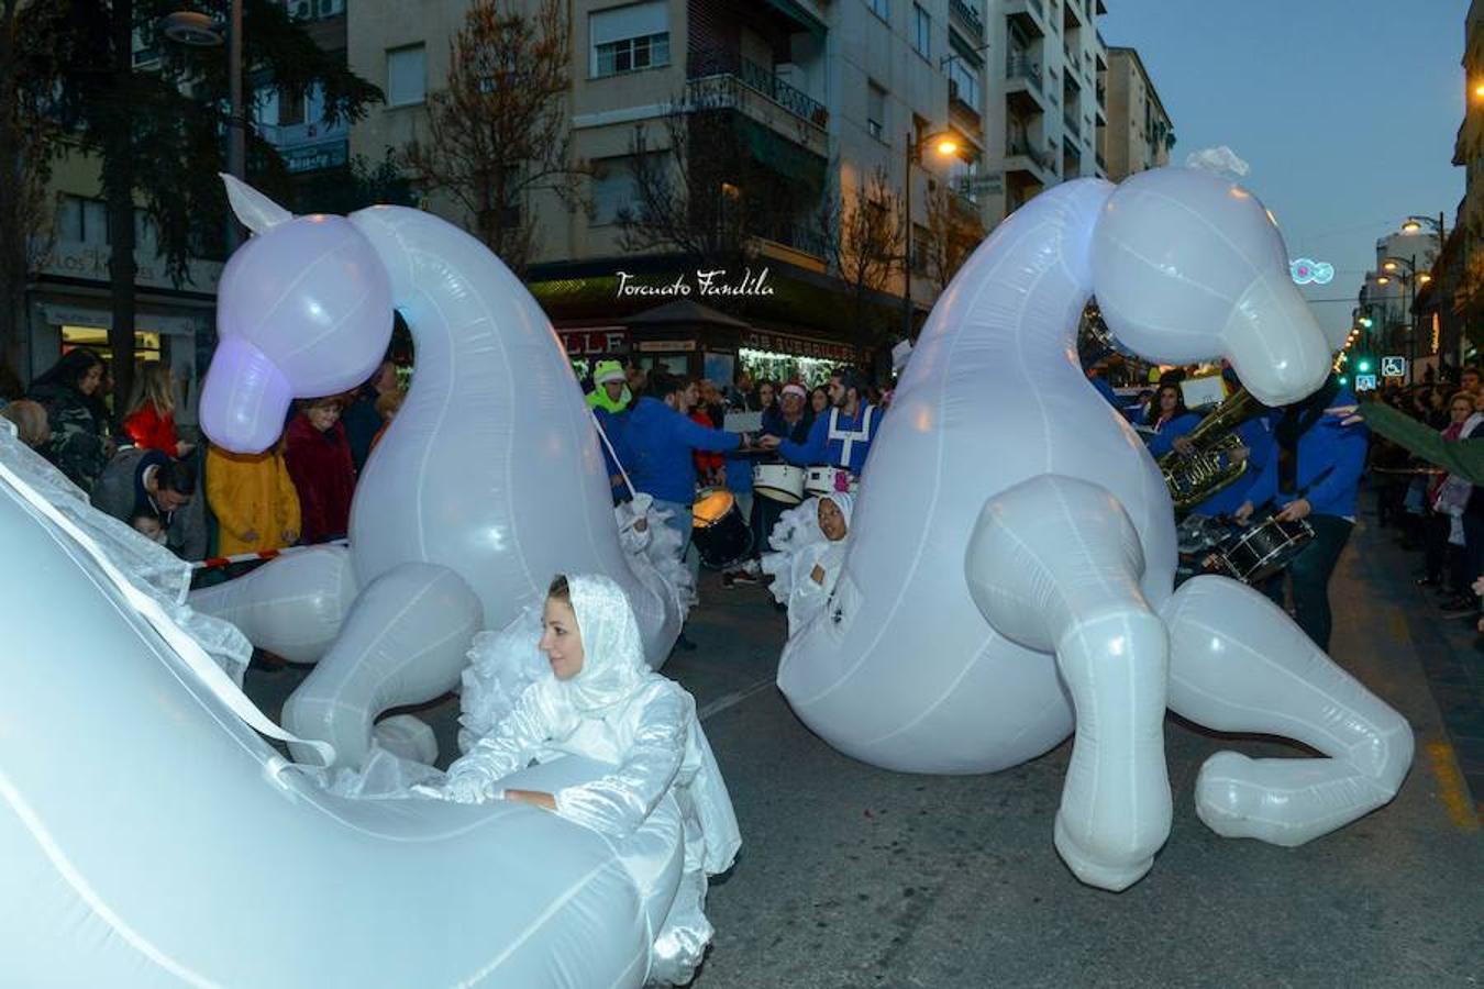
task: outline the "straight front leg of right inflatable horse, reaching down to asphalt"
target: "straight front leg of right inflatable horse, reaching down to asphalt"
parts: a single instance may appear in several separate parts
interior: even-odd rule
[[[990,498],[965,560],[990,626],[1055,652],[1077,734],[1057,851],[1083,882],[1123,890],[1169,835],[1169,644],[1140,590],[1144,556],[1117,500],[1086,480],[1031,477]]]

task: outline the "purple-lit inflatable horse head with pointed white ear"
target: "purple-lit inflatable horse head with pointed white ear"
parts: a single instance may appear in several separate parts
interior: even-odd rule
[[[257,454],[278,439],[295,397],[346,391],[371,377],[392,338],[392,288],[371,242],[344,216],[294,216],[224,175],[254,233],[221,276],[221,343],[200,399],[218,446]]]

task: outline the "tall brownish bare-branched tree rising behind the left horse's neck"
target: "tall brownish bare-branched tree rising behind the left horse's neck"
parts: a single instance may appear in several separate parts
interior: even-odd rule
[[[565,4],[478,0],[450,43],[448,86],[427,99],[427,138],[402,154],[413,182],[450,196],[466,224],[524,273],[536,221],[527,199],[555,190],[570,208],[586,168],[571,160],[564,104],[571,86]]]

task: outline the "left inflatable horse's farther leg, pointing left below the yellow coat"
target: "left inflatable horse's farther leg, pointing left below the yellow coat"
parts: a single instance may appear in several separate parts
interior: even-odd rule
[[[350,553],[343,546],[318,546],[191,592],[188,603],[237,626],[260,649],[291,663],[318,663],[355,598]]]

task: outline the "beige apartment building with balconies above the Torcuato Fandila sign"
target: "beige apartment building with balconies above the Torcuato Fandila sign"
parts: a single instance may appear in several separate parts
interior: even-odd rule
[[[352,154],[378,159],[413,138],[426,119],[429,89],[447,76],[450,39],[466,6],[352,6],[350,65],[387,92],[387,105],[353,129]],[[939,190],[951,191],[953,209],[972,224],[988,216],[981,173],[999,125],[991,123],[997,108],[988,99],[991,39],[982,0],[574,0],[568,10],[568,114],[574,157],[592,169],[591,211],[533,197],[527,208],[539,227],[528,280],[577,354],[631,348],[644,363],[690,371],[721,366],[706,363],[708,347],[859,359],[850,325],[856,310],[841,305],[844,288],[815,222],[821,205],[843,208],[880,171],[895,203],[911,199],[914,255],[930,227],[929,203],[942,202],[933,199]],[[769,268],[773,291],[727,300],[738,317],[732,322],[683,308],[680,325],[631,323],[656,300],[617,291],[619,271],[656,285],[693,277],[681,270],[695,267],[693,259],[663,246],[625,251],[617,222],[635,196],[638,129],[643,153],[671,154],[666,122],[677,111],[705,114],[708,126],[721,122],[726,147],[748,157],[752,181],[781,203],[748,231],[755,265]],[[920,153],[928,138],[945,132],[956,138],[954,154]],[[692,148],[697,160],[706,151]],[[910,305],[899,265],[890,282],[864,292],[877,323],[904,308],[920,320],[930,307],[926,265],[914,267]],[[692,295],[690,302],[706,300]],[[697,319],[714,322],[692,325]],[[668,344],[674,347],[665,350]]]

